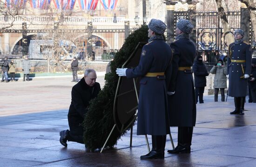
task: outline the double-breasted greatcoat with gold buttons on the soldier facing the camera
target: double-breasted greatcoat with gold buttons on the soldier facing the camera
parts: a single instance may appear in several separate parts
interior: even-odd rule
[[[231,62],[231,60],[245,60],[246,62]],[[251,47],[247,42],[229,45],[229,57],[227,62],[229,73],[229,96],[245,97],[247,95],[248,80],[242,77],[251,71]],[[243,70],[242,66],[243,65]],[[244,71],[244,72],[243,72]]]

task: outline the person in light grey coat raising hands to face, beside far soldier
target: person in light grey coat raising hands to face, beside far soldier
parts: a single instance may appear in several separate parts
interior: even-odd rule
[[[210,70],[214,76],[214,101],[218,101],[219,89],[222,95],[222,101],[225,101],[224,89],[227,88],[227,67],[224,65],[223,60],[218,60],[214,67]]]

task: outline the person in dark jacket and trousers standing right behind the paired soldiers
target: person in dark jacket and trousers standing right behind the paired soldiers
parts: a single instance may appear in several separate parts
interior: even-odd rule
[[[203,103],[204,87],[206,87],[206,76],[209,75],[205,65],[202,62],[202,56],[197,56],[193,65],[193,72],[195,78],[195,100],[199,103]]]

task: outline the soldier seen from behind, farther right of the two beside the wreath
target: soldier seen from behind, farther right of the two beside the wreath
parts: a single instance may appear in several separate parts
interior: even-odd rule
[[[181,19],[176,24],[173,50],[172,73],[168,87],[170,126],[178,127],[178,145],[171,154],[190,153],[193,127],[195,126],[196,106],[193,71],[191,67],[196,56],[195,44],[189,39],[193,24]]]

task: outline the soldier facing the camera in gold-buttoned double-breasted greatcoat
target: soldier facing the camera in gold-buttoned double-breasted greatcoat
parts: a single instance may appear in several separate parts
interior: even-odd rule
[[[248,78],[251,72],[251,47],[243,41],[244,32],[235,31],[235,42],[229,45],[228,73],[229,96],[234,97],[235,110],[230,114],[243,115],[245,96],[247,95]]]

